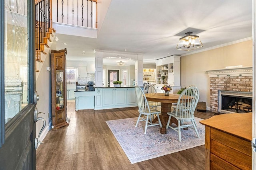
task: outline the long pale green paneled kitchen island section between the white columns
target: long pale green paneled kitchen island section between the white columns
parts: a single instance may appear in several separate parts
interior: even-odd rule
[[[134,86],[96,87],[94,110],[138,106]]]

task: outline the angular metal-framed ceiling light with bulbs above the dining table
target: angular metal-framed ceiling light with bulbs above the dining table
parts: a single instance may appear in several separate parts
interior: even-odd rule
[[[192,32],[187,32],[185,34],[186,36],[180,38],[176,50],[190,51],[193,49],[204,47],[198,35],[191,35]]]

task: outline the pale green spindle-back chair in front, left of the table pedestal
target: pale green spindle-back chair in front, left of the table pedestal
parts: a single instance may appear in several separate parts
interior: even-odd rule
[[[155,109],[150,109],[150,107],[148,105],[148,100],[147,100],[147,98],[145,96],[145,93],[142,90],[142,88],[140,88],[140,86],[136,85],[134,88],[135,88],[137,102],[138,102],[138,107],[139,107],[138,111],[140,113],[139,117],[137,119],[135,127],[137,127],[139,121],[145,121],[145,131],[144,131],[144,134],[146,134],[147,128],[150,127],[150,126],[160,125],[160,127],[162,127],[162,123],[161,123],[161,120],[160,120],[160,117],[159,117],[160,111],[155,110]],[[142,115],[145,115],[146,119],[145,119],[145,117],[142,117]],[[153,117],[154,117],[154,115],[157,116],[158,123],[155,123],[155,124],[152,123],[152,117],[151,117],[152,115],[153,115]]]

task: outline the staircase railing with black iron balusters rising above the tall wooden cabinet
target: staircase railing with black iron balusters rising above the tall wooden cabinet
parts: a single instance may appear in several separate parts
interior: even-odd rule
[[[49,28],[52,27],[52,1],[35,0],[35,4],[36,50],[40,51],[41,44],[47,43],[48,33],[50,32]]]

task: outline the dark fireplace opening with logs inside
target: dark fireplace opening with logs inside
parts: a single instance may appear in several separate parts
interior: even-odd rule
[[[221,95],[221,109],[234,113],[252,112],[252,98]]]

